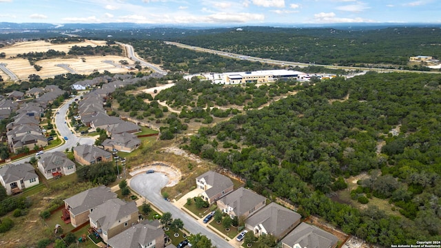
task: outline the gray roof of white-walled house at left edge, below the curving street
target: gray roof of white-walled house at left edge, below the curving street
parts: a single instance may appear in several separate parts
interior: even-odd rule
[[[17,180],[29,180],[38,178],[34,167],[29,163],[21,163],[19,165],[3,165],[0,167],[0,176],[5,183],[12,183]]]

